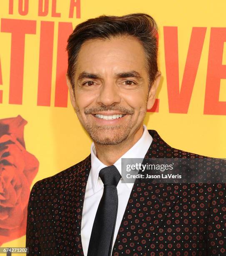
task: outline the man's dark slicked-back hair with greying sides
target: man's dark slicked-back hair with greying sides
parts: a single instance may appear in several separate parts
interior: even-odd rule
[[[124,16],[106,16],[88,19],[78,24],[68,38],[68,78],[74,90],[76,61],[79,50],[90,39],[110,39],[119,36],[137,38],[144,49],[149,75],[149,89],[158,72],[158,28],[155,20],[145,13]]]

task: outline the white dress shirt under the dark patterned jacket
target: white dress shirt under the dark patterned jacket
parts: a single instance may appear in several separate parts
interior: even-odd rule
[[[148,133],[146,125],[143,125],[143,135],[141,138],[123,155],[119,158],[113,165],[116,166],[121,174],[121,159],[122,158],[144,158],[148,148],[152,143],[152,137]],[[95,215],[98,209],[100,199],[103,195],[103,182],[99,177],[99,172],[102,168],[106,167],[96,156],[96,150],[94,143],[91,145],[91,169],[88,177],[86,189],[85,189],[85,199],[83,204],[82,213],[82,223],[81,223],[81,239],[83,246],[83,253],[87,256],[88,246],[91,236],[91,231],[93,228],[93,223]],[[122,180],[122,178],[121,178]],[[121,180],[118,182],[118,213],[116,219],[116,226],[113,238],[113,246],[116,241],[116,236],[118,234],[121,221],[123,219],[124,212],[126,210],[126,205],[128,203],[131,190],[133,188],[133,183],[122,183]],[[111,249],[111,253],[113,250]]]

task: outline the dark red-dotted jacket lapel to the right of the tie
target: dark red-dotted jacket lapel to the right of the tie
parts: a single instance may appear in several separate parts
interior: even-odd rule
[[[142,164],[150,158],[175,158],[174,148],[165,143],[158,133],[148,130],[153,138]],[[146,181],[146,179],[145,179]],[[143,182],[136,179],[123,215],[113,255],[142,255],[158,229],[166,221],[168,213],[181,198],[178,184]]]

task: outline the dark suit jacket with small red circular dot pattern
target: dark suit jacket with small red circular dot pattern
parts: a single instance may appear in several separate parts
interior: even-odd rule
[[[154,130],[147,158],[207,158],[169,146]],[[225,172],[225,161],[208,158]],[[36,182],[28,203],[30,255],[83,255],[81,219],[90,155]],[[112,255],[226,255],[225,183],[143,183],[136,179]]]

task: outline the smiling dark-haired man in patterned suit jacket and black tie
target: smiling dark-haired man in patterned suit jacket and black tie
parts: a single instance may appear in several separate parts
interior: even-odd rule
[[[91,154],[35,183],[32,255],[226,255],[224,183],[123,182],[125,158],[208,159],[171,148],[143,125],[160,82],[157,26],[146,14],[101,16],[68,39],[67,82]],[[198,170],[197,170],[198,172]]]

